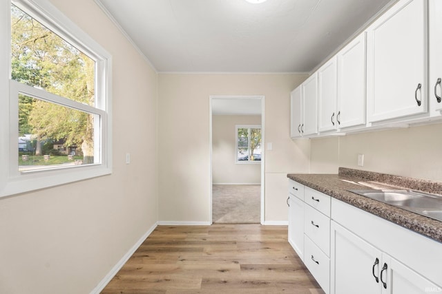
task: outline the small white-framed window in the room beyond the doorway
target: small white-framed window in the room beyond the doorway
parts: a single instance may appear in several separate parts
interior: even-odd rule
[[[236,162],[261,162],[261,126],[236,126]]]

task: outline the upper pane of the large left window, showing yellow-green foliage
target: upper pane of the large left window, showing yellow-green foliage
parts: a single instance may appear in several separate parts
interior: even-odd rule
[[[12,79],[95,106],[95,61],[11,7]]]

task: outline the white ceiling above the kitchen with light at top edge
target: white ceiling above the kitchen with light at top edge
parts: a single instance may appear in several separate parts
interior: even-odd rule
[[[391,0],[95,0],[157,72],[311,72]]]

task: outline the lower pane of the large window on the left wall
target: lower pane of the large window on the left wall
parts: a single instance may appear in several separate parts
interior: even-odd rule
[[[99,116],[19,94],[19,171],[89,165]]]

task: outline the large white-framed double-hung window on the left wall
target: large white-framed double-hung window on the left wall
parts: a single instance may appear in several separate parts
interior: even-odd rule
[[[33,3],[0,4],[0,197],[111,173],[111,55]]]

